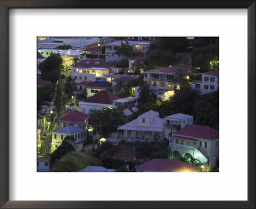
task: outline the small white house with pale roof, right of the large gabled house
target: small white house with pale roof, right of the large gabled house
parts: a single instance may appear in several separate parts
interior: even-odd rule
[[[164,120],[166,121],[166,135],[193,124],[193,116],[182,113],[168,115],[164,117]]]

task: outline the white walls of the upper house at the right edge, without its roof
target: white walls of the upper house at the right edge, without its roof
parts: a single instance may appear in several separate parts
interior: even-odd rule
[[[214,78],[214,82],[211,82],[211,78]],[[214,89],[211,89],[214,88]],[[208,89],[205,89],[208,88]],[[219,78],[216,76],[202,74],[202,80],[195,80],[195,83],[191,84],[191,89],[199,90],[200,94],[207,94],[214,92],[219,88]]]

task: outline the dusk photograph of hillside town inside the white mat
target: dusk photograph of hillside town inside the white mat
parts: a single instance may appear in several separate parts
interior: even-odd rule
[[[38,37],[38,172],[218,172],[218,37]]]

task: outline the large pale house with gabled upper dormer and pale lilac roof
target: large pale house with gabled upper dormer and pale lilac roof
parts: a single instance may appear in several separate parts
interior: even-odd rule
[[[164,138],[164,120],[159,118],[159,113],[150,110],[143,113],[138,119],[118,127],[118,140],[154,140]]]

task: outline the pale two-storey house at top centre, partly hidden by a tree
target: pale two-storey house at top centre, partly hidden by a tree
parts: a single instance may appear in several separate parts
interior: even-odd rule
[[[115,54],[116,50],[121,46],[125,41],[110,41],[110,43],[105,43],[106,46],[106,62],[118,62],[124,59],[122,55]],[[150,42],[148,41],[128,41],[128,44],[132,46],[134,52],[147,52],[149,50]]]

